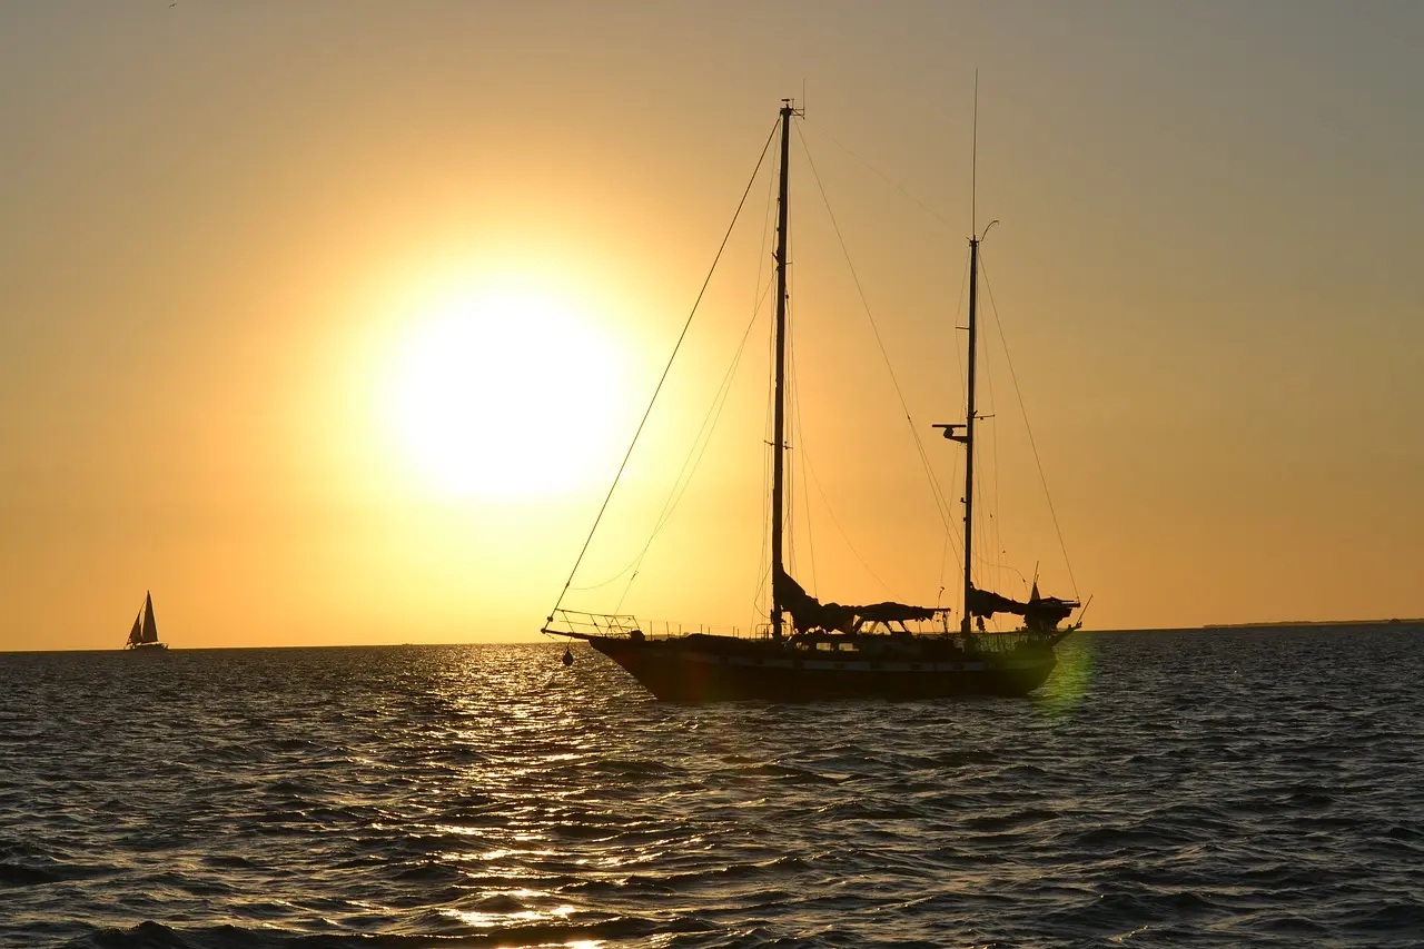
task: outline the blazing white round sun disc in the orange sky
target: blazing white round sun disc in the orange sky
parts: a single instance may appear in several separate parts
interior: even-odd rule
[[[422,309],[397,355],[389,425],[427,483],[500,500],[611,477],[621,359],[575,302],[521,281]]]

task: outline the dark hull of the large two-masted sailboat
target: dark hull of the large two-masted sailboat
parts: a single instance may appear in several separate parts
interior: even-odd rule
[[[736,654],[674,641],[588,637],[664,701],[820,701],[1027,695],[1057,665],[1051,645],[954,660],[873,660],[789,655],[768,648]]]

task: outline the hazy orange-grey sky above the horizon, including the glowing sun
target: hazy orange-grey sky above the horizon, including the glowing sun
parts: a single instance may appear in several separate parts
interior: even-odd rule
[[[957,520],[975,70],[985,583],[1037,563],[1101,628],[1424,616],[1421,37],[1300,0],[0,4],[0,648],[117,648],[150,588],[175,647],[531,638],[803,90],[795,569],[954,603],[860,294]],[[768,174],[575,586],[698,445]],[[765,301],[746,339],[627,598],[568,606],[756,621]]]

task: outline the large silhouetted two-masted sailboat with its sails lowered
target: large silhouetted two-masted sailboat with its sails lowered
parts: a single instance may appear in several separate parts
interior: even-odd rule
[[[1037,579],[1025,601],[974,584],[974,363],[978,245],[983,234],[975,232],[970,238],[965,420],[934,426],[941,429],[944,437],[963,445],[967,455],[964,598],[957,627],[950,621],[950,610],[938,606],[820,603],[785,567],[787,182],[792,120],[802,114],[792,100],[782,101],[775,252],[772,597],[768,623],[756,637],[705,631],[654,636],[646,634],[634,616],[565,610],[561,594],[541,631],[588,643],[618,663],[654,697],[665,701],[1025,695],[1040,688],[1054,671],[1054,647],[1081,627],[1081,614],[1078,623],[1062,626],[1081,604],[1075,598],[1040,596]],[[587,551],[587,544],[584,549]],[[564,593],[570,583],[564,586]],[[985,631],[984,620],[997,613],[1022,617],[1022,626],[1012,631]],[[977,620],[977,631],[971,620]],[[913,630],[911,624],[921,631]],[[926,624],[930,631],[923,631]]]

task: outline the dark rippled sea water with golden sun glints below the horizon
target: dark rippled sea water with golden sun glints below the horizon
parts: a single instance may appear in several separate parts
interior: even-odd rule
[[[1424,628],[931,702],[561,651],[0,654],[0,945],[1424,946]]]

